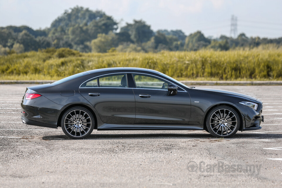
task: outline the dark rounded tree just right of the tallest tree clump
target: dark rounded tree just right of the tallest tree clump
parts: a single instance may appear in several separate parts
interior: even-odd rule
[[[126,23],[126,26],[120,28],[120,31],[127,31],[135,43],[149,41],[154,33],[151,30],[151,26],[147,25],[146,22],[142,20],[133,20],[133,24]]]

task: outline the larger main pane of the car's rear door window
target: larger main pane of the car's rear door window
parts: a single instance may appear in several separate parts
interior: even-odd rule
[[[99,77],[100,88],[128,88],[126,74]]]

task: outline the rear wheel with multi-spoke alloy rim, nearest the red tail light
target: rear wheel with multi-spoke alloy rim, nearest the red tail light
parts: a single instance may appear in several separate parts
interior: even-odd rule
[[[95,125],[93,114],[83,107],[68,109],[61,119],[63,132],[70,138],[83,139],[89,136]]]

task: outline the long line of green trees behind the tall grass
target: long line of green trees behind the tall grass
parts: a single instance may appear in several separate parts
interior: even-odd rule
[[[205,37],[201,31],[188,36],[181,30],[152,31],[143,20],[118,23],[103,11],[76,6],[58,16],[49,28],[33,30],[28,26],[0,27],[0,55],[38,51],[46,48],[70,48],[80,52],[159,52],[227,51],[238,48],[281,48],[282,37],[269,39],[220,36]]]

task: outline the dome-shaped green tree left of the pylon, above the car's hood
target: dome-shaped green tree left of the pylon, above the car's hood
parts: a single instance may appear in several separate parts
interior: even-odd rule
[[[191,33],[185,40],[184,49],[187,51],[197,51],[208,46],[211,41],[206,38],[201,31]]]

